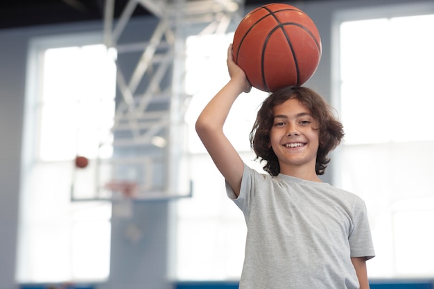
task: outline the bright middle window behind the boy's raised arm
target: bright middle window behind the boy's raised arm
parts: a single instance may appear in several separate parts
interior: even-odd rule
[[[239,279],[246,226],[243,213],[227,198],[225,181],[198,138],[194,125],[200,112],[229,80],[226,57],[233,34],[191,36],[186,42],[186,158],[191,166],[193,197],[177,201],[178,280]],[[252,89],[234,103],[225,133],[243,160],[261,171],[250,150],[249,132],[268,94]]]

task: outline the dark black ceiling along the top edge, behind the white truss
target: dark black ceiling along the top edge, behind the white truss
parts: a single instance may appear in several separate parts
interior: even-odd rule
[[[105,0],[1,0],[0,29],[103,19]],[[121,15],[128,0],[116,0],[114,17]],[[270,3],[246,0],[245,5]],[[133,16],[150,14],[138,5]]]

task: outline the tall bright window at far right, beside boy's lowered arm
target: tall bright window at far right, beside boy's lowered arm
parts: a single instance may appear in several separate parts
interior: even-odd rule
[[[388,11],[390,12],[390,11]],[[432,277],[434,15],[340,24],[337,186],[367,202],[370,277]]]

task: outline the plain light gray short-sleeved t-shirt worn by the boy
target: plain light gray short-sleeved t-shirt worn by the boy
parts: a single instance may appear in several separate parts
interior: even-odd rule
[[[239,288],[359,288],[350,258],[375,253],[357,195],[246,165],[238,198],[226,189],[248,227]]]

